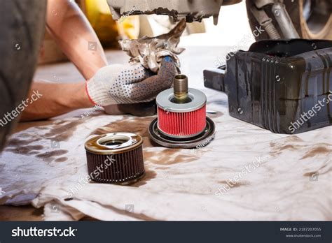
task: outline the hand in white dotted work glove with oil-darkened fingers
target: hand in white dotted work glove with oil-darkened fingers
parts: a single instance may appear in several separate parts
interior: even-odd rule
[[[160,91],[172,86],[177,68],[170,57],[162,60],[158,74],[137,64],[110,65],[86,83],[90,100],[98,105],[132,104],[152,101]]]

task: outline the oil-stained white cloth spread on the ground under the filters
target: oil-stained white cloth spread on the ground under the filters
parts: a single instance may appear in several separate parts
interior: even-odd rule
[[[0,158],[0,204],[44,207],[45,220],[331,220],[332,126],[274,134],[230,117],[226,95],[205,93],[216,135],[199,149],[153,144],[154,117],[96,113],[15,133]],[[86,182],[84,141],[115,131],[143,136],[146,176]]]

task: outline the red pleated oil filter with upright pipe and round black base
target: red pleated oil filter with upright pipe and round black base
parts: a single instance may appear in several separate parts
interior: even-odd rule
[[[150,137],[165,147],[200,145],[214,134],[214,122],[206,115],[206,103],[202,91],[188,88],[186,75],[176,75],[174,87],[160,92],[156,98],[158,118],[149,126]]]

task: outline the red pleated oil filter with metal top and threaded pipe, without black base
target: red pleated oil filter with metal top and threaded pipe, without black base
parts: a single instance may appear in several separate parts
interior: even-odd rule
[[[193,138],[207,126],[207,96],[188,88],[186,75],[176,75],[173,84],[156,98],[158,130],[171,138]]]

